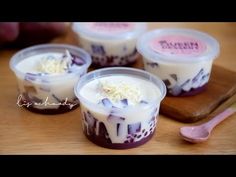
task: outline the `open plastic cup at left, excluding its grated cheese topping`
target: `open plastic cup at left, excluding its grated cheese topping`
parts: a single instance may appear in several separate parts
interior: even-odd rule
[[[55,75],[32,72],[39,61],[33,57],[63,55],[65,50],[73,56],[75,67],[72,71]],[[42,114],[59,114],[75,109],[79,102],[73,89],[90,64],[90,55],[72,45],[43,44],[17,52],[10,60],[10,68],[18,81],[17,105]]]

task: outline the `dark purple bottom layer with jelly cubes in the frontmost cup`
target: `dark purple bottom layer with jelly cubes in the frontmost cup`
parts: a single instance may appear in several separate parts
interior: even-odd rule
[[[124,139],[123,143],[112,143],[109,133],[104,125],[103,122],[98,121],[89,111],[83,112],[83,127],[84,127],[84,134],[85,136],[92,141],[93,143],[110,149],[128,149],[128,148],[134,148],[139,145],[142,145],[146,143],[155,132],[156,127],[156,119],[155,116],[153,116],[149,120],[149,128],[142,129],[142,123],[137,122],[133,124],[123,125],[122,122],[124,119],[117,119],[117,118],[110,118],[108,117],[108,121],[110,119],[116,119],[111,120],[110,123],[116,124],[117,130],[117,136],[120,135],[120,127],[121,126],[127,126],[127,135]],[[124,128],[124,127],[123,127]],[[121,128],[121,129],[123,129]]]

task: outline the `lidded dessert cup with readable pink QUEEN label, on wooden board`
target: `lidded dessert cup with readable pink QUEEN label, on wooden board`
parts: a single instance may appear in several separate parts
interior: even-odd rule
[[[164,81],[167,95],[191,96],[206,88],[219,43],[196,30],[158,29],[142,35],[137,50],[145,70]]]

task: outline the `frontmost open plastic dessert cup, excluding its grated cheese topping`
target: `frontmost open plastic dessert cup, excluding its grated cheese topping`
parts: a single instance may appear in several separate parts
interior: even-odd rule
[[[125,80],[124,77],[130,79],[130,82],[127,82],[129,84],[140,84],[145,93],[153,93],[151,101],[141,100],[131,105],[130,100],[124,99],[125,107],[117,107],[107,98],[96,101],[99,90],[95,90],[94,95],[87,94],[90,98],[83,92],[97,89],[101,79],[118,83],[119,79]],[[93,83],[94,87],[89,88],[89,84]],[[75,86],[75,95],[80,100],[83,132],[87,138],[102,147],[127,149],[144,144],[154,134],[158,119],[156,116],[159,114],[160,102],[166,95],[166,87],[159,78],[146,71],[111,67],[84,75]]]

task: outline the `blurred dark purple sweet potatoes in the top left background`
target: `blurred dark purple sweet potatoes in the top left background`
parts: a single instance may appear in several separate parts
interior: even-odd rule
[[[46,43],[67,29],[63,22],[0,23],[0,45],[26,47]]]

